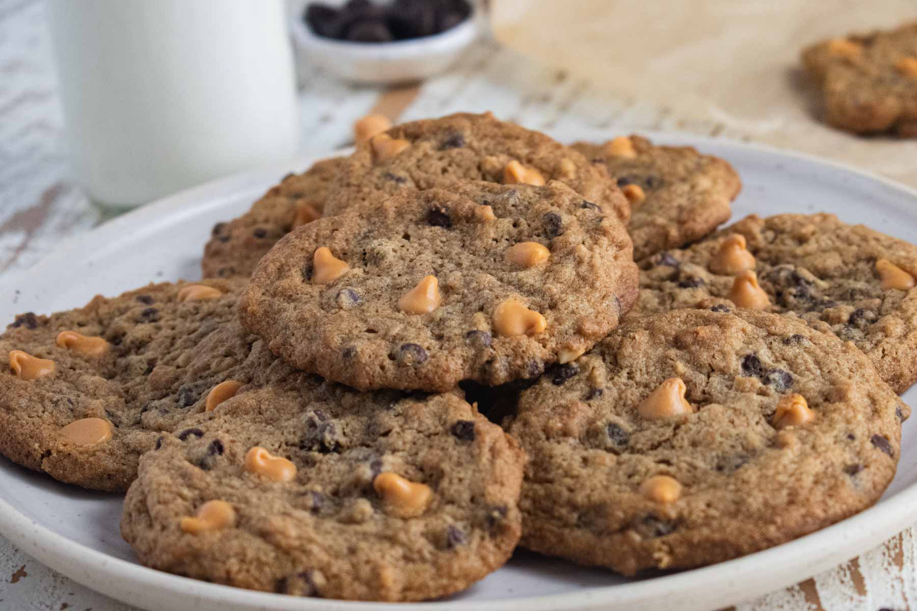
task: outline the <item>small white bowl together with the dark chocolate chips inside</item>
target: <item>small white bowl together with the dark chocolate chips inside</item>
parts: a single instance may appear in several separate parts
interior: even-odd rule
[[[420,81],[445,71],[477,38],[468,0],[312,2],[293,16],[303,60],[349,82]]]

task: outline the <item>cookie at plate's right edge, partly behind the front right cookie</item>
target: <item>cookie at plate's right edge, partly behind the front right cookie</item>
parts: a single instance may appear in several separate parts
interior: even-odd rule
[[[917,379],[917,246],[834,214],[756,215],[640,262],[628,314],[739,306],[851,341],[903,392]]]

